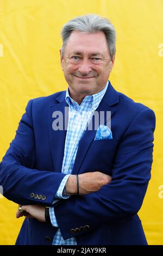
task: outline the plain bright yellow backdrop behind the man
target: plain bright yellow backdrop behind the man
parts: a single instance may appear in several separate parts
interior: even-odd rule
[[[0,0],[0,161],[15,136],[28,100],[66,89],[59,61],[60,29],[72,17],[87,13],[108,17],[116,28],[112,85],[156,114],[152,180],[139,216],[148,243],[161,245],[163,198],[159,198],[158,187],[163,184],[163,54],[159,57],[159,45],[163,44],[162,0]],[[16,209],[15,203],[0,199],[1,245],[15,243],[22,224],[15,218]]]

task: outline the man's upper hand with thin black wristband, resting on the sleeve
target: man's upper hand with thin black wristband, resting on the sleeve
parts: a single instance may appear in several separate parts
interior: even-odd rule
[[[84,196],[101,189],[102,186],[111,182],[111,176],[101,172],[90,172],[78,175],[79,195]],[[67,194],[77,194],[76,175],[70,175],[66,183]]]

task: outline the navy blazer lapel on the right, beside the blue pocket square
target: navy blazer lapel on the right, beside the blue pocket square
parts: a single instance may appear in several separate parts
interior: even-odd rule
[[[109,82],[108,89],[106,90],[106,93],[105,93],[101,103],[99,104],[98,108],[96,109],[96,111],[98,111],[99,115],[100,115],[100,112],[102,112],[102,111],[104,113],[106,113],[106,111],[110,111],[111,112],[110,117],[112,117],[112,114],[114,114],[115,109],[110,106],[115,105],[117,102],[118,102],[118,93],[111,86],[111,83]],[[106,124],[107,121],[108,121],[107,116],[105,114],[103,124]],[[94,126],[95,120],[92,121],[92,124],[93,124],[92,127],[95,127]],[[77,151],[77,155],[76,155],[76,160],[74,162],[74,166],[73,166],[73,170],[72,170],[72,174],[76,174],[79,172],[80,166],[84,160],[87,150],[89,149],[91,142],[95,138],[96,131],[97,130],[95,130],[95,129],[86,130],[84,132],[82,138],[80,139],[80,142],[78,145],[78,151]]]

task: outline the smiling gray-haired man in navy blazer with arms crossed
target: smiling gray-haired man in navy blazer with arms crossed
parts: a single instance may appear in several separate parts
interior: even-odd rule
[[[28,102],[1,162],[4,196],[26,216],[16,245],[146,245],[137,212],[151,178],[154,112],[108,81],[110,21],[80,16],[61,35],[68,89]],[[98,129],[95,112],[104,113]]]

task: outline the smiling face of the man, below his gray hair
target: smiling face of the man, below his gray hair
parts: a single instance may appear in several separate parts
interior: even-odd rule
[[[100,92],[106,85],[115,56],[110,58],[103,32],[73,31],[61,66],[74,100]]]

